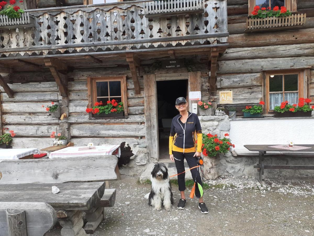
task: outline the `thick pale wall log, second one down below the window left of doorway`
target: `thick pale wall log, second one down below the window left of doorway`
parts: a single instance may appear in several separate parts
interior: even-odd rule
[[[81,137],[82,133],[85,137],[143,137],[145,136],[145,125],[72,124],[70,132],[73,137]]]

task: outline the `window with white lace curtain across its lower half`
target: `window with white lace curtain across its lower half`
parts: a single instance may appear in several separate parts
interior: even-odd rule
[[[272,113],[283,101],[298,104],[299,98],[307,97],[305,74],[305,70],[264,72],[266,112]]]

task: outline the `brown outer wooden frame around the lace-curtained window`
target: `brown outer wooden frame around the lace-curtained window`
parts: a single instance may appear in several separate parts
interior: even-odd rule
[[[263,114],[273,114],[270,110],[269,102],[269,76],[270,75],[289,75],[298,74],[298,91],[299,98],[307,98],[309,96],[309,69],[287,69],[287,70],[265,70],[263,71],[263,101],[265,102]]]

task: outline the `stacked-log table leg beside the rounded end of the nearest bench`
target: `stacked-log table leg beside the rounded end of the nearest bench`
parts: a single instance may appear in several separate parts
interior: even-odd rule
[[[70,211],[68,217],[59,218],[62,236],[87,236],[83,227],[83,211]]]

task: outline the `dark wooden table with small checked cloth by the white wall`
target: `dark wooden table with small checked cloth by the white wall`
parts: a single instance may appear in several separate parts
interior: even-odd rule
[[[266,152],[314,152],[314,145],[299,144],[289,148],[288,145],[244,145],[249,151],[257,151],[259,153],[258,164],[254,166],[259,172],[258,182],[266,188],[264,182],[265,169],[290,169],[290,170],[314,170],[314,166],[296,166],[296,165],[265,165],[264,156]]]

